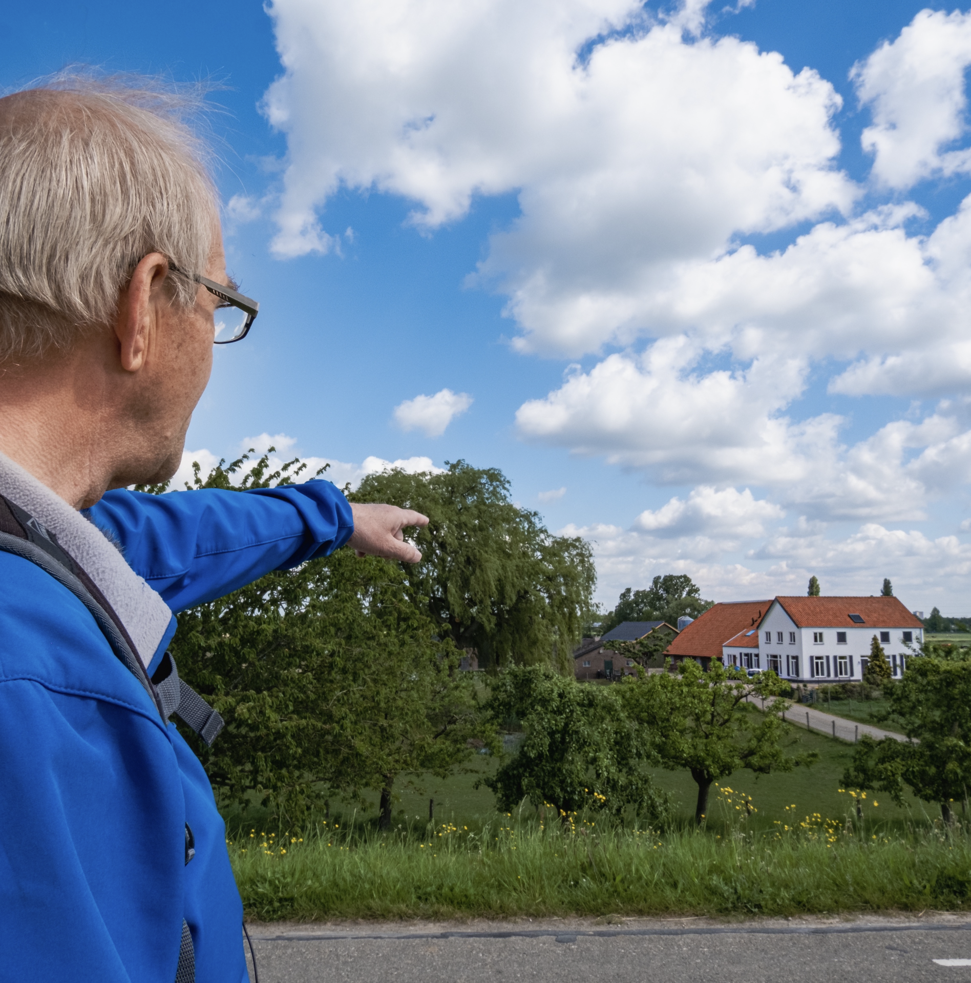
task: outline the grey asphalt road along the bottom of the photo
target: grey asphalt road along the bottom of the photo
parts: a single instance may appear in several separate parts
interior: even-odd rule
[[[249,934],[259,983],[971,981],[964,915],[612,922],[280,924]]]

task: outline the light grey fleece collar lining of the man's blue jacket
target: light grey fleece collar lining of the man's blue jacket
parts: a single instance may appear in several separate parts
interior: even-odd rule
[[[168,605],[97,526],[4,454],[0,454],[0,494],[54,533],[61,548],[115,609],[147,668],[172,621]]]

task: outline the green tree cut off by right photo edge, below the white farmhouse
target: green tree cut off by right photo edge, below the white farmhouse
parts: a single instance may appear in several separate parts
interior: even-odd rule
[[[904,786],[925,802],[938,802],[945,823],[951,803],[966,801],[971,785],[971,658],[911,659],[890,690],[890,711],[913,742],[861,738],[842,781],[874,788],[903,801]]]

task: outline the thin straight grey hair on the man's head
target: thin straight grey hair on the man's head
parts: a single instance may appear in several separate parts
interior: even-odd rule
[[[200,105],[152,80],[80,73],[0,99],[0,362],[113,322],[148,253],[205,269],[219,210],[185,121]],[[169,279],[191,304],[195,284]]]

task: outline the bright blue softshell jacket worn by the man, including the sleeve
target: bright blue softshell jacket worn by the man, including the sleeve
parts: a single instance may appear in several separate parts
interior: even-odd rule
[[[109,492],[87,515],[174,611],[353,529],[321,481]],[[197,983],[246,980],[243,906],[198,760],[73,594],[6,552],[0,584],[0,980],[173,983],[184,918]]]

